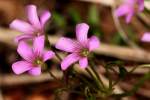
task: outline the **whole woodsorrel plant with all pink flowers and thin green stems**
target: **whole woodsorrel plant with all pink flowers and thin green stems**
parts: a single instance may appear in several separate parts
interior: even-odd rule
[[[143,11],[143,0],[125,0],[125,2],[116,9],[116,16],[120,17],[125,15],[126,22],[129,23],[132,16],[136,12],[135,7],[137,5],[138,11]],[[29,74],[38,77],[38,75],[41,74],[41,69],[46,66],[45,61],[56,56],[61,61],[60,65],[61,70],[63,71],[64,81],[62,83],[62,80],[60,80],[60,82],[63,84],[63,87],[60,87],[58,91],[77,93],[81,96],[85,96],[87,100],[96,100],[96,98],[107,98],[110,96],[119,98],[132,95],[134,92],[136,92],[139,84],[142,84],[142,82],[144,82],[143,80],[149,78],[149,74],[146,74],[145,77],[143,77],[139,83],[136,84],[136,87],[130,92],[114,94],[114,86],[122,77],[126,77],[134,69],[131,72],[128,72],[120,62],[106,64],[104,68],[109,80],[109,85],[107,86],[97,72],[95,67],[96,64],[94,62],[95,58],[93,55],[91,55],[92,51],[100,46],[100,41],[96,36],[91,36],[88,38],[89,25],[86,23],[79,23],[76,25],[76,40],[67,37],[61,37],[56,43],[55,47],[57,49],[70,53],[65,58],[61,58],[59,53],[57,53],[57,51],[54,49],[48,51],[45,50],[45,41],[49,42],[49,40],[47,34],[44,33],[44,26],[50,16],[51,14],[49,11],[44,11],[41,16],[38,17],[36,6],[28,5],[27,17],[29,22],[16,19],[10,24],[11,28],[23,33],[15,38],[15,41],[18,44],[17,52],[23,58],[23,60],[12,64],[12,69],[15,74],[28,72]],[[150,34],[145,33],[142,40],[150,41]],[[28,44],[28,41],[32,42],[33,45],[31,47]],[[49,47],[52,49],[50,43]],[[77,61],[79,61],[79,69],[84,70],[83,72],[80,72],[73,67]],[[110,77],[110,71],[114,71],[114,68],[112,67],[114,65],[120,70],[120,79],[115,82],[113,82]],[[49,73],[52,75],[52,77],[56,78],[51,72]]]

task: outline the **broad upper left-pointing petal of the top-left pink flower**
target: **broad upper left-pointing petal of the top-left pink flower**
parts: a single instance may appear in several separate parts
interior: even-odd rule
[[[23,32],[23,33],[32,33],[34,31],[33,27],[29,23],[24,22],[22,20],[18,20],[18,19],[14,20],[10,24],[10,28]]]

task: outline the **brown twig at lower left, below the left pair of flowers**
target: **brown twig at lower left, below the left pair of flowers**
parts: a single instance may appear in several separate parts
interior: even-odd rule
[[[60,71],[53,71],[56,75],[56,78],[59,79],[62,77],[62,72]],[[1,75],[0,75],[1,76]],[[34,77],[31,75],[3,75],[0,77],[0,86],[14,86],[20,84],[30,84],[30,83],[40,83],[44,81],[53,80],[53,77],[50,77],[49,73],[41,74],[38,77]]]

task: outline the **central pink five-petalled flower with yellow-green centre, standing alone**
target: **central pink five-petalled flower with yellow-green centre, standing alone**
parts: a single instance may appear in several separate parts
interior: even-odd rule
[[[66,70],[71,64],[79,61],[81,68],[88,65],[88,56],[91,51],[98,48],[100,43],[96,36],[87,38],[89,26],[85,23],[76,26],[77,40],[62,37],[56,44],[56,48],[69,52],[66,58],[61,62],[62,70]]]

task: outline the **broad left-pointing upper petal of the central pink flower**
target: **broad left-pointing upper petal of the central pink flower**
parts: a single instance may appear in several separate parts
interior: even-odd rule
[[[55,47],[66,52],[77,52],[81,46],[77,41],[62,37],[59,39]]]

